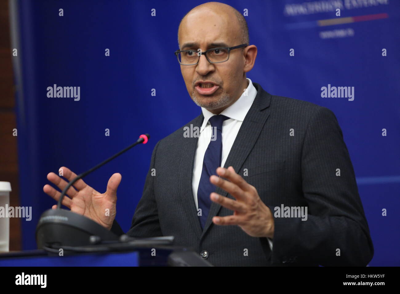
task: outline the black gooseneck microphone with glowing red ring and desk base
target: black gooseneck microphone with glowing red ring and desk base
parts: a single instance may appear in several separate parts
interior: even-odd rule
[[[62,248],[62,246],[84,246],[90,245],[90,236],[98,236],[101,240],[112,241],[118,240],[119,236],[107,230],[94,220],[86,216],[76,214],[70,210],[61,208],[62,199],[64,198],[68,188],[77,180],[87,176],[94,170],[97,170],[107,162],[110,162],[117,156],[128,151],[130,148],[138,144],[146,144],[150,138],[149,134],[140,135],[139,139],[132,145],[124,148],[117,154],[92,167],[90,170],[83,172],[71,180],[62,190],[60,199],[58,200],[56,209],[46,210],[39,219],[36,226],[36,243],[38,248],[48,248],[52,245]]]

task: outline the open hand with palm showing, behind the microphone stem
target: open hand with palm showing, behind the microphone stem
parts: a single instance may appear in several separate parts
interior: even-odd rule
[[[61,169],[64,178],[68,182],[76,177],[76,174],[69,168],[62,166]],[[100,194],[80,179],[68,188],[66,195],[62,199],[62,204],[70,208],[72,212],[82,214],[110,230],[116,216],[117,188],[121,178],[121,174],[113,174],[108,180],[107,190],[103,194]],[[60,188],[61,191],[68,184],[54,172],[50,172],[47,175],[47,179]],[[44,185],[43,191],[56,201],[60,199],[61,192],[58,192],[49,184]],[[55,209],[56,207],[57,205],[53,205],[52,208]]]

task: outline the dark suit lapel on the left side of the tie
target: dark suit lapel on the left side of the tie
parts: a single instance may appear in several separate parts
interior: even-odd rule
[[[200,130],[200,127],[203,123],[204,116],[203,114],[200,114],[197,118],[189,122],[186,126],[190,128],[190,125],[192,124],[193,128],[198,127]],[[182,128],[182,134],[183,134],[183,128]],[[194,202],[194,196],[193,196],[193,187],[192,187],[192,180],[193,180],[193,168],[194,168],[194,157],[196,155],[196,149],[197,149],[197,142],[198,142],[198,137],[191,136],[190,138],[184,138],[182,136],[182,153],[181,158],[178,158],[178,162],[183,162],[182,166],[180,166],[180,171],[181,171],[181,179],[180,179],[180,191],[182,191],[182,203],[184,206],[184,210],[188,216],[188,220],[194,229],[194,232],[200,239],[200,236],[202,234],[202,228],[200,226],[200,222],[198,220],[197,216],[197,210],[196,210],[196,203]],[[178,179],[177,179],[178,180]]]

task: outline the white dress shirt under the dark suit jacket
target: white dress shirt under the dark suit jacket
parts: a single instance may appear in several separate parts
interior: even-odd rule
[[[247,78],[249,84],[246,88],[247,91],[243,91],[243,94],[238,100],[231,106],[225,108],[220,114],[228,116],[229,119],[225,120],[222,124],[222,159],[221,166],[224,166],[226,159],[228,158],[230,149],[232,148],[233,142],[235,141],[236,135],[239,132],[240,126],[244,117],[246,116],[248,110],[256,98],[257,90],[254,88],[252,81]],[[245,96],[247,94],[247,96]],[[212,112],[208,111],[206,108],[201,108],[204,116],[203,124],[200,128],[200,136],[198,138],[196,155],[194,158],[194,168],[193,168],[193,196],[194,202],[196,203],[196,208],[198,208],[197,201],[197,190],[200,183],[200,177],[203,170],[203,158],[206,153],[208,144],[211,140],[211,124],[208,121],[211,116],[214,116]],[[227,167],[226,167],[227,168]],[[232,212],[233,214],[233,212]],[[272,241],[268,238],[268,243],[272,250]]]

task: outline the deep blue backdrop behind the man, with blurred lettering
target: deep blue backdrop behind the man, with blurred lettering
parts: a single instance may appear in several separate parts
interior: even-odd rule
[[[253,82],[336,114],[374,242],[370,265],[399,266],[400,1],[222,2],[248,12],[250,44],[258,47],[247,75]],[[108,178],[122,174],[116,219],[129,229],[156,142],[200,114],[173,52],[180,19],[201,3],[18,2],[12,19],[19,26],[13,58],[20,64],[14,68],[20,200],[33,214],[32,221],[22,220],[24,249],[36,248],[38,218],[55,203],[42,190],[48,172],[65,165],[78,174],[148,132],[148,144],[84,179],[104,192]],[[80,86],[80,100],[48,98],[46,89],[54,84]],[[322,98],[328,84],[354,86],[354,100]]]

